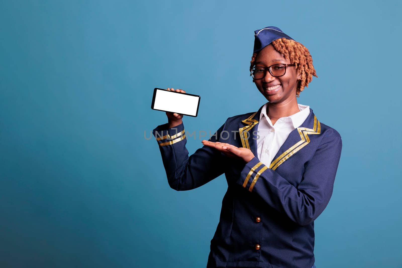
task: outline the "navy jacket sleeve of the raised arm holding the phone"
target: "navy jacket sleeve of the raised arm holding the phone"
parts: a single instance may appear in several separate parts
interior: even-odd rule
[[[219,141],[225,125],[226,122],[209,141]],[[203,145],[189,157],[183,123],[172,128],[168,128],[167,123],[159,125],[152,133],[158,141],[168,183],[172,189],[191,190],[224,173],[224,155],[214,148]]]

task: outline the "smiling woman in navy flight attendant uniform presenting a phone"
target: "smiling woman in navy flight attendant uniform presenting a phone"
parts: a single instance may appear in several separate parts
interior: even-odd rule
[[[250,72],[268,102],[228,118],[190,157],[182,115],[166,113],[154,129],[168,182],[191,190],[226,176],[207,268],[315,267],[314,220],[332,195],[342,139],[297,104],[316,76],[306,47],[277,27],[257,30]]]

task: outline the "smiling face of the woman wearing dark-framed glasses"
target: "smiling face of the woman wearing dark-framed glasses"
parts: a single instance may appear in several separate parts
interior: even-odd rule
[[[264,47],[255,58],[255,67],[268,67],[276,63],[291,63],[289,59],[275,50],[272,44]],[[295,66],[287,66],[283,76],[271,76],[267,74],[262,79],[254,80],[258,90],[269,102],[282,103],[296,99],[297,84],[300,74],[297,74]]]

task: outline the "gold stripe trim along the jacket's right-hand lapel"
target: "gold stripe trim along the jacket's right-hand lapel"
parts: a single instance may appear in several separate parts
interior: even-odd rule
[[[281,155],[279,155],[269,166],[272,170],[276,170],[279,165],[285,162],[289,157],[297,153],[301,148],[308,145],[310,143],[310,138],[308,134],[320,134],[321,133],[321,125],[320,122],[317,120],[316,116],[314,115],[314,125],[313,129],[309,129],[307,127],[298,127],[297,131],[300,135],[300,141],[295,143],[295,145],[291,146],[289,149],[284,151]]]

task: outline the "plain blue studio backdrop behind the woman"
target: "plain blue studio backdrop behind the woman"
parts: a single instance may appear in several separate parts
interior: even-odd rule
[[[308,47],[298,102],[343,139],[316,266],[402,267],[400,2],[255,3],[0,3],[0,267],[205,267],[226,180],[169,188],[152,91],[201,95],[189,132],[256,111],[266,26]]]

